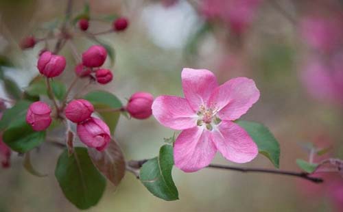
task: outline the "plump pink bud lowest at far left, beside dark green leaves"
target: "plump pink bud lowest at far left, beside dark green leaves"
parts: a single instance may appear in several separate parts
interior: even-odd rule
[[[38,101],[29,105],[26,114],[26,122],[34,131],[43,131],[51,124],[51,109],[47,103]]]

